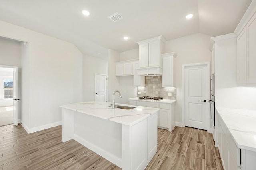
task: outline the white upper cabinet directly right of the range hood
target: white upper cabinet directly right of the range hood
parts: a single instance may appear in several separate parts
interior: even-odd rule
[[[174,59],[176,56],[175,52],[162,54],[162,87],[174,86]]]

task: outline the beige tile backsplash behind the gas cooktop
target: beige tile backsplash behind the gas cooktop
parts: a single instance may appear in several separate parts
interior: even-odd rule
[[[141,94],[138,94],[140,92]],[[168,96],[171,93],[172,96]],[[145,87],[137,88],[137,97],[153,96],[176,99],[176,87],[162,87],[162,76],[146,76]]]

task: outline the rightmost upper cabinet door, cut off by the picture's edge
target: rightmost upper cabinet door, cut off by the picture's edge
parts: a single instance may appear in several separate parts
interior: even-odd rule
[[[247,83],[256,83],[256,14],[247,24]]]

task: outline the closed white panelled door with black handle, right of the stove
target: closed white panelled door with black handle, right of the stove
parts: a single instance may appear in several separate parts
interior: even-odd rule
[[[184,69],[185,126],[207,130],[208,127],[208,64],[194,64]]]

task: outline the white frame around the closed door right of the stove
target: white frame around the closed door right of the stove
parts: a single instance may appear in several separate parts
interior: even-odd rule
[[[208,70],[208,93],[207,93],[207,99],[209,100],[210,98],[210,74],[211,74],[211,70],[210,70],[210,62],[205,62],[205,63],[194,63],[194,64],[182,64],[182,127],[185,127],[185,68],[189,67],[189,66],[205,66],[207,67]],[[207,101],[208,103],[208,101]],[[209,105],[209,103],[208,103]],[[210,107],[208,107],[208,132],[211,132],[211,126],[210,126]]]

